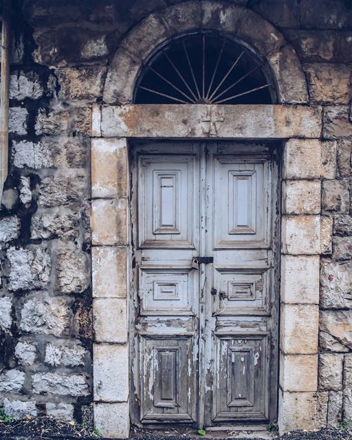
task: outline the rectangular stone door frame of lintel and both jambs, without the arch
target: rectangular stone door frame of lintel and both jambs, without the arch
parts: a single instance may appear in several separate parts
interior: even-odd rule
[[[92,140],[94,153],[91,166],[94,199],[91,228],[96,427],[107,437],[126,437],[129,432],[128,140],[131,137],[213,137],[286,141],[283,146],[282,176],[284,211],[281,226],[282,318],[278,423],[281,432],[314,429],[318,377],[319,261],[320,254],[331,242],[331,232],[328,237],[322,234],[327,226],[323,220],[325,217],[320,217],[320,180],[331,174],[327,168],[325,143],[318,140],[322,124],[321,109],[294,105],[183,107],[95,105],[93,109],[95,138]],[[219,111],[223,114],[221,122]],[[204,114],[207,115],[206,121],[202,117]],[[236,124],[234,115],[243,122],[242,125]],[[245,120],[251,123],[246,124]],[[265,120],[265,124],[261,120]],[[105,175],[110,176],[109,179],[101,177],[103,170]],[[125,382],[121,377],[116,377],[117,366]]]

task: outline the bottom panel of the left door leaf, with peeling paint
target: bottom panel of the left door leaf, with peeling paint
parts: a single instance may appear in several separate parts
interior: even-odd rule
[[[142,423],[192,423],[195,395],[193,337],[140,337]]]

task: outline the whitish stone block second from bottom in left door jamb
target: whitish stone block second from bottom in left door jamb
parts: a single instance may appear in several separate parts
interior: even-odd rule
[[[94,344],[94,400],[128,401],[129,347]]]

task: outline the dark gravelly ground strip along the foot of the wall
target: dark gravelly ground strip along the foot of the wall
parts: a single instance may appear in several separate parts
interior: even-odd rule
[[[139,437],[141,438],[141,437]],[[143,437],[146,440],[199,440],[200,435],[195,437],[161,437],[150,434]],[[208,440],[210,437],[206,436]],[[239,434],[228,437],[229,439],[254,440],[252,436],[243,437]],[[0,440],[42,440],[42,439],[61,439],[61,440],[98,440],[99,432],[94,432],[74,423],[63,423],[52,419],[52,417],[36,417],[22,421],[12,421],[4,423],[0,421]],[[352,440],[352,432],[343,430],[320,430],[316,432],[289,432],[282,437],[272,434],[272,439],[276,440]],[[219,440],[219,439],[217,439]],[[260,440],[260,439],[258,439]]]

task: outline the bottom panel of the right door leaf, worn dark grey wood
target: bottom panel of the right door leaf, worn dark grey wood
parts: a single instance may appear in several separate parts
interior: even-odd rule
[[[265,335],[214,336],[214,421],[266,419],[268,349]]]

